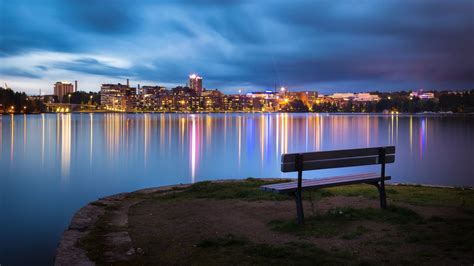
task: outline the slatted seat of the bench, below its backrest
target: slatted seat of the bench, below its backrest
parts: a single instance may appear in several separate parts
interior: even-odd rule
[[[390,176],[386,176],[385,180],[390,180]],[[323,179],[303,180],[302,189],[324,188],[332,186],[361,184],[380,181],[380,175],[376,173],[366,173],[348,176],[335,176]],[[272,191],[276,193],[291,193],[297,190],[298,182],[287,182],[279,184],[271,184],[260,187],[265,191]]]

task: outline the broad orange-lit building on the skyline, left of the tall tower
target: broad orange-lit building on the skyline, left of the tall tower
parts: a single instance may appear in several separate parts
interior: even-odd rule
[[[100,102],[112,111],[131,111],[136,107],[136,89],[122,84],[102,84]]]

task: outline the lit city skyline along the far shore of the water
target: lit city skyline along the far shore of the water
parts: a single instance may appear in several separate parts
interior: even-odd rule
[[[43,101],[46,104],[46,110],[39,111],[37,107],[20,106],[22,112],[73,112],[71,83],[55,83],[55,94],[51,96],[31,96],[27,97],[29,101]],[[177,86],[167,89],[163,86],[142,86],[133,87],[128,82],[127,85],[102,84],[99,94],[86,94],[89,101],[78,104],[78,110],[111,111],[111,112],[381,112],[385,114],[396,114],[396,112],[412,112],[407,110],[404,101],[420,100],[430,101],[438,100],[439,94],[434,92],[411,92],[406,96],[397,96],[397,103],[390,108],[381,109],[378,102],[382,99],[393,100],[394,94],[380,93],[353,93],[353,92],[335,92],[329,95],[318,94],[317,91],[310,90],[289,90],[281,86],[278,90],[257,90],[245,91],[245,88],[237,89],[238,93],[225,94],[218,89],[207,89],[203,86],[202,77],[197,74],[190,74],[186,86]],[[242,94],[243,93],[243,94]],[[448,92],[452,94],[452,92]],[[61,99],[66,96],[66,103]],[[398,95],[398,94],[397,94]],[[462,96],[461,94],[459,94]],[[76,95],[75,95],[76,96]],[[83,96],[81,96],[83,97]],[[98,97],[97,100],[95,100]],[[416,97],[416,99],[414,98]],[[58,101],[59,100],[59,101]],[[95,100],[95,101],[94,101]],[[78,98],[77,101],[82,101]],[[294,102],[299,101],[297,104]],[[399,103],[398,103],[399,102]],[[302,103],[302,104],[301,104]],[[5,113],[14,113],[14,106],[3,109]],[[92,106],[94,104],[95,106]],[[426,105],[426,107],[436,106]],[[68,107],[66,109],[66,106]],[[318,108],[315,108],[318,106]],[[431,111],[434,109],[426,111]],[[32,109],[32,110],[30,110]],[[377,110],[376,110],[377,109]],[[419,108],[418,108],[419,109]],[[396,110],[396,111],[395,111]],[[423,110],[424,111],[424,110]]]

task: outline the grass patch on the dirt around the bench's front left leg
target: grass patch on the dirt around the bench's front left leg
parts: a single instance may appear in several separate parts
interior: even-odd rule
[[[268,226],[271,230],[297,236],[333,237],[343,234],[343,239],[354,239],[369,231],[362,227],[349,231],[351,225],[357,221],[407,224],[420,222],[422,219],[410,209],[393,205],[385,211],[374,208],[344,207],[333,208],[324,214],[307,217],[304,226],[297,224],[295,219],[272,220]]]

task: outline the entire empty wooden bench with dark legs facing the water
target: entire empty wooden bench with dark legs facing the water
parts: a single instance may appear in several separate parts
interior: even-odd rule
[[[385,209],[387,207],[385,180],[390,180],[390,176],[385,175],[385,164],[393,162],[395,162],[394,146],[283,154],[281,156],[281,171],[285,173],[298,172],[298,180],[295,182],[265,185],[260,188],[265,191],[280,194],[294,194],[299,224],[304,223],[301,191],[307,189],[362,183],[371,184],[376,186],[379,190],[380,207]],[[380,174],[353,174],[323,179],[303,180],[303,171],[373,164],[381,165]]]

